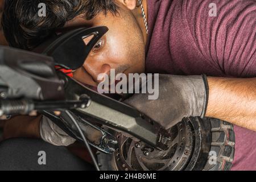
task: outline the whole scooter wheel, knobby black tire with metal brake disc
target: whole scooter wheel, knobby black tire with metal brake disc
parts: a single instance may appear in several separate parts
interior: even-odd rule
[[[119,148],[114,154],[97,152],[104,171],[228,171],[232,167],[234,128],[219,119],[184,118],[170,129],[172,142],[167,151],[148,149],[143,142],[109,132],[117,137]]]

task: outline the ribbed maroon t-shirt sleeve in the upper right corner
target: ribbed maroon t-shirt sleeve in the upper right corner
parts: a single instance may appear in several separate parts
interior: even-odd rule
[[[183,1],[205,59],[231,77],[256,77],[256,0]]]

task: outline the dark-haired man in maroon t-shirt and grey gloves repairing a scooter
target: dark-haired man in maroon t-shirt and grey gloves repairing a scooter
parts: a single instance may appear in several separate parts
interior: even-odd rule
[[[152,112],[157,107],[142,95],[127,102],[164,127],[189,115],[219,118],[237,125],[233,169],[256,169],[254,0],[144,0],[142,6],[136,0],[43,2],[47,5],[46,17],[35,16],[39,1],[6,1],[3,27],[10,46],[33,49],[49,35],[65,29],[108,26],[109,32],[94,47],[83,67],[74,71],[77,80],[97,86],[97,76],[109,73],[111,68],[126,74],[205,74],[207,79],[171,75],[160,78],[163,97],[155,105],[166,107],[168,112],[162,115]],[[214,6],[216,16],[209,13]],[[185,107],[176,109],[170,105]],[[170,116],[174,116],[173,121],[167,122]],[[73,142],[56,137],[58,132],[49,132],[53,127],[50,121],[41,122],[44,124],[39,132],[40,119],[34,120],[24,121],[29,123],[27,129],[15,130],[15,135],[6,134],[6,138],[41,135],[53,144]],[[6,131],[14,130],[11,123],[7,122]],[[17,123],[20,122],[15,122],[16,127]]]

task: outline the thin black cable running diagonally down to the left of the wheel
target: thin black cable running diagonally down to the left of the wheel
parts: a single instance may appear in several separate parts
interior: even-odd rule
[[[82,140],[84,140],[84,143],[85,143],[85,146],[87,147],[89,153],[90,153],[90,156],[92,157],[92,160],[93,160],[93,164],[95,166],[95,168],[97,169],[97,171],[100,171],[100,168],[98,167],[98,162],[92,152],[92,149],[90,148],[89,146],[89,143],[87,141],[87,139],[85,138],[84,136],[84,133],[82,133],[82,130],[81,130],[81,127],[79,126],[79,124],[77,123],[76,119],[73,117],[73,115],[69,112],[69,110],[65,110],[65,113],[68,115],[68,117],[72,120],[72,122],[76,125],[77,127],[77,130],[79,130],[79,133],[82,137]]]

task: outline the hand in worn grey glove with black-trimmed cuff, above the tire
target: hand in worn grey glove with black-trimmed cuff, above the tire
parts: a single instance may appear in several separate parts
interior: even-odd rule
[[[184,117],[204,117],[208,90],[206,76],[159,75],[157,100],[148,100],[149,94],[135,94],[125,103],[170,129]]]

